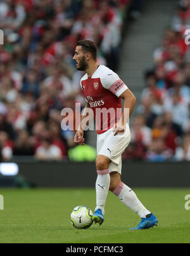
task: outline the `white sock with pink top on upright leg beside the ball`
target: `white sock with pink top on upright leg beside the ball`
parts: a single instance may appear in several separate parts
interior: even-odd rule
[[[98,177],[96,179],[96,208],[101,209],[105,213],[106,198],[110,187],[110,173],[107,170],[97,170]]]

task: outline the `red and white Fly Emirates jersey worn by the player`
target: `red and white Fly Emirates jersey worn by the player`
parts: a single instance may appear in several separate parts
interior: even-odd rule
[[[125,83],[111,69],[99,65],[91,77],[85,74],[80,79],[80,86],[94,112],[97,133],[112,128],[122,116],[120,95],[128,88]]]

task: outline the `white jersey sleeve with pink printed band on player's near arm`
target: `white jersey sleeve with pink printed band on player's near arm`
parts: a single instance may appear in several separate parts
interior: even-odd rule
[[[120,97],[122,93],[128,89],[126,84],[120,79],[120,77],[113,71],[106,72],[106,74],[101,77],[101,84],[104,88],[111,91],[117,97]]]

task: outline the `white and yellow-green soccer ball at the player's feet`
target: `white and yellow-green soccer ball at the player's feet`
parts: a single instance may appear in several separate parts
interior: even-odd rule
[[[93,212],[84,205],[75,207],[70,214],[70,221],[76,229],[88,229],[92,225]]]

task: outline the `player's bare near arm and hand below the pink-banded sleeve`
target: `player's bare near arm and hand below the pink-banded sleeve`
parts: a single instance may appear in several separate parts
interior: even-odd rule
[[[113,126],[113,132],[115,132],[114,136],[117,135],[117,133],[123,133],[125,131],[125,125],[130,118],[136,104],[136,97],[129,89],[125,90],[122,95],[120,95],[120,97],[124,99],[124,109],[129,110],[129,116],[126,116],[125,111],[123,111],[122,118],[115,126]]]

